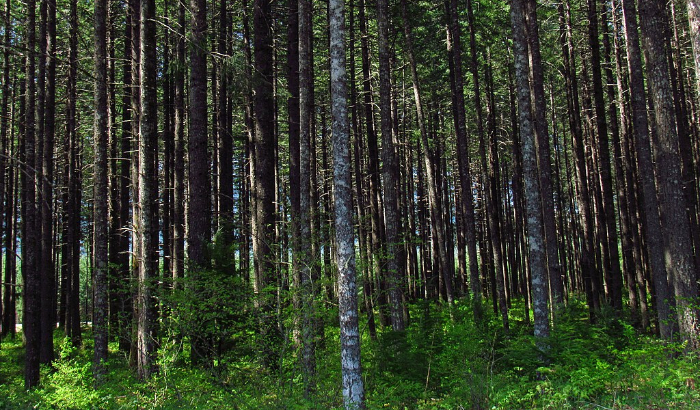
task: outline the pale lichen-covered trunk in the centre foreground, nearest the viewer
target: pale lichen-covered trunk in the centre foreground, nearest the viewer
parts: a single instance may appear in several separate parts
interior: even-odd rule
[[[364,385],[360,363],[360,329],[355,286],[355,239],[352,222],[350,127],[345,74],[344,1],[330,0],[331,107],[333,116],[333,181],[338,264],[341,371],[345,408],[363,409]]]

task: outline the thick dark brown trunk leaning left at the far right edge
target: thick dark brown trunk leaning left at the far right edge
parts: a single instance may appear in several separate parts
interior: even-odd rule
[[[688,341],[689,347],[697,348],[697,270],[681,181],[676,113],[664,37],[668,32],[668,20],[663,5],[650,0],[640,0],[639,17],[656,119],[656,137],[652,138],[652,144],[666,269],[673,277],[681,337]]]

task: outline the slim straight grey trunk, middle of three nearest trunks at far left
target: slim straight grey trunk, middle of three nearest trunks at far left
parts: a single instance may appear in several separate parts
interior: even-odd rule
[[[99,381],[105,373],[107,361],[107,13],[108,0],[95,2],[95,182],[94,182],[94,260],[95,301],[93,305],[93,334],[95,338],[94,373]]]

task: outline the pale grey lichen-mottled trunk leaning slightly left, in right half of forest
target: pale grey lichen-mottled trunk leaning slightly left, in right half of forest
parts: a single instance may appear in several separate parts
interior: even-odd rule
[[[532,124],[532,106],[528,79],[527,38],[524,32],[524,4],[522,0],[511,1],[510,18],[513,29],[513,55],[515,57],[515,80],[518,93],[520,138],[523,153],[523,184],[527,214],[527,236],[530,271],[532,277],[532,299],[535,313],[535,337],[542,340],[549,336],[549,310],[547,309],[547,265],[542,233],[542,203],[537,173],[537,152]],[[541,345],[540,348],[545,348]]]

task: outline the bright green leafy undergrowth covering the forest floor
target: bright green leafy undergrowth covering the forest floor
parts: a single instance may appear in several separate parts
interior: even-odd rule
[[[522,311],[517,306],[511,313]],[[405,333],[363,327],[362,360],[370,409],[698,409],[700,361],[683,346],[639,334],[603,312],[597,324],[581,304],[558,313],[546,357],[535,348],[532,327],[511,317],[505,334],[496,316],[475,326],[462,304],[452,315],[435,304],[410,307]],[[333,312],[328,312],[328,323]],[[56,334],[57,360],[42,370],[42,385],[23,388],[21,336],[0,347],[0,409],[332,409],[342,406],[337,325],[325,328],[318,347],[317,388],[303,397],[291,347],[280,351],[277,370],[256,359],[252,333],[233,337],[233,347],[214,369],[189,365],[189,348],[162,342],[159,372],[140,382],[116,344],[106,379],[92,378],[92,341],[74,348]],[[699,386],[700,387],[700,386]]]

